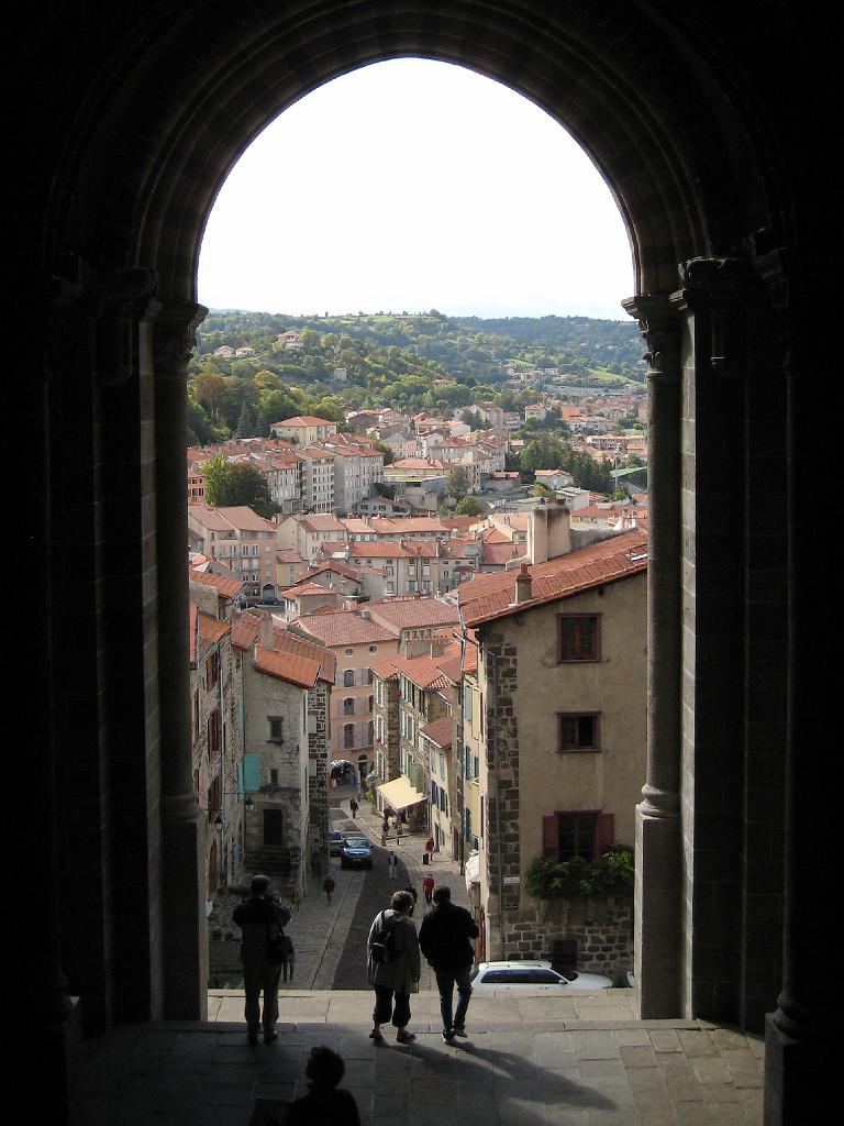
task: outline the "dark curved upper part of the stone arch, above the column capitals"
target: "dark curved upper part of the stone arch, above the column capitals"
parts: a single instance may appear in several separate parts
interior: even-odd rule
[[[638,292],[671,291],[679,261],[736,253],[771,222],[760,185],[774,159],[753,107],[725,86],[726,48],[707,28],[670,25],[662,7],[147,6],[90,86],[55,182],[47,253],[150,267],[162,298],[195,300],[205,221],[263,127],[331,79],[417,55],[499,80],[565,125],[616,197]]]

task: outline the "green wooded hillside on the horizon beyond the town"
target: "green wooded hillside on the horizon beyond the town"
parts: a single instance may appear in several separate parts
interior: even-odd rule
[[[294,330],[293,347],[279,336]],[[225,346],[224,355],[216,355]],[[228,355],[228,350],[237,355]],[[281,418],[389,404],[450,417],[483,400],[521,411],[542,390],[565,399],[641,385],[644,342],[630,321],[450,318],[428,313],[294,316],[212,312],[189,365],[191,436],[266,434]],[[536,374],[539,373],[539,374]],[[520,375],[529,382],[521,383]]]

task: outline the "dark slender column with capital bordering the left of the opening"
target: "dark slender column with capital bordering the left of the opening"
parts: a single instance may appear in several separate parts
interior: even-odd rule
[[[163,1015],[207,1016],[206,817],[191,769],[186,551],[186,382],[200,305],[161,306],[152,325],[158,557],[158,663],[161,722],[161,959]]]

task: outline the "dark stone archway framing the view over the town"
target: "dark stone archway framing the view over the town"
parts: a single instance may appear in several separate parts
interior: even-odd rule
[[[775,965],[779,938],[774,928],[765,944],[752,926],[748,888],[764,870],[781,902],[782,882],[775,855],[760,859],[745,846],[748,824],[770,834],[782,822],[785,724],[765,727],[770,686],[748,667],[754,623],[767,615],[783,627],[784,596],[770,614],[763,604],[766,583],[784,589],[787,578],[784,544],[782,558],[765,555],[764,578],[754,568],[764,547],[746,509],[754,493],[772,504],[791,488],[781,465],[769,466],[774,481],[762,485],[753,455],[772,434],[797,441],[785,427],[783,349],[766,287],[791,315],[800,287],[778,250],[796,238],[783,138],[769,128],[758,90],[730,65],[728,30],[729,21],[707,23],[683,3],[667,12],[610,0],[596,12],[587,0],[349,0],[330,10],[257,0],[242,17],[206,5],[122,14],[102,55],[96,36],[88,54],[84,37],[71,36],[77,66],[61,71],[71,111],[56,99],[61,140],[45,145],[53,163],[44,207],[34,208],[32,286],[42,293],[46,278],[57,279],[48,404],[36,405],[52,456],[39,509],[55,563],[47,580],[54,605],[72,602],[86,641],[70,688],[55,662],[50,673],[59,716],[80,722],[65,731],[57,721],[61,749],[57,730],[48,738],[60,797],[68,762],[97,780],[82,810],[101,857],[89,930],[117,951],[110,960],[95,951],[91,962],[95,1026],[201,1011],[201,828],[186,761],[180,578],[183,369],[203,315],[203,224],[226,170],[271,117],[338,74],[408,54],[469,65],[535,100],[592,155],[625,217],[638,288],[628,307],[649,347],[656,461],[652,745],[639,841],[639,900],[652,910],[639,947],[659,956],[637,965],[643,1012],[757,1020],[770,1008],[771,984],[754,959]],[[68,42],[60,20],[57,44],[63,33]],[[81,529],[72,525],[74,490],[87,499]],[[733,540],[721,535],[725,511]],[[50,618],[45,627],[60,658],[72,650],[63,624],[54,629]],[[782,649],[767,668],[782,695]],[[763,744],[775,777],[765,777]],[[122,769],[126,785],[110,788],[104,778]],[[767,793],[758,816],[751,789]],[[118,808],[131,815],[117,817]],[[70,837],[63,817],[56,824]],[[115,878],[118,857],[141,888],[128,902]],[[82,860],[71,840],[65,863],[81,870]],[[171,933],[165,921],[185,918],[189,886],[190,918]],[[778,910],[770,904],[769,918]],[[71,953],[88,937],[71,936]]]

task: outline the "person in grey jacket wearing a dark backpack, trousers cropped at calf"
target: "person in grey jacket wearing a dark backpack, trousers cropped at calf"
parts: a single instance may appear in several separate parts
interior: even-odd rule
[[[407,1031],[411,1019],[411,993],[419,992],[422,958],[410,892],[396,892],[389,908],[372,920],[367,939],[367,978],[375,990],[372,1030],[369,1038],[384,1040],[381,1025],[390,1021],[396,1028],[396,1043],[415,1039]]]

